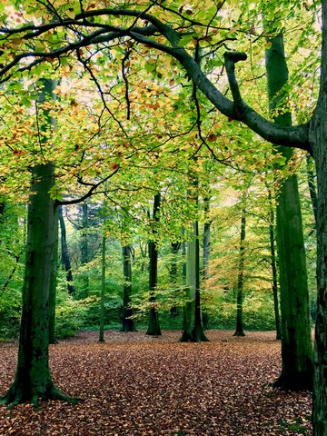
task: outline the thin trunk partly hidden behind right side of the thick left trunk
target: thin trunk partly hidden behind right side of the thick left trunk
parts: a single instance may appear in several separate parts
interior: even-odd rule
[[[58,343],[55,339],[55,300],[58,273],[58,205],[54,208],[54,248],[51,260],[49,292],[49,343]]]

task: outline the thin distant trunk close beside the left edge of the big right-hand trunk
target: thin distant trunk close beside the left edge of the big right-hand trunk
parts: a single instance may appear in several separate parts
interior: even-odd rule
[[[272,295],[273,295],[273,309],[276,324],[276,339],[282,339],[281,332],[281,317],[279,312],[278,302],[278,278],[277,278],[277,264],[275,252],[275,234],[274,234],[274,213],[272,206],[272,191],[268,188],[268,201],[270,208],[270,221],[269,221],[269,239],[270,239],[270,252],[271,252],[271,265],[272,265]]]

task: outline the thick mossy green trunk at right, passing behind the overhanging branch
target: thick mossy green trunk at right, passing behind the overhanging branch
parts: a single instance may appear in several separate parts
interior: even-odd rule
[[[272,37],[266,51],[266,68],[270,108],[278,107],[287,83],[288,70],[283,49],[283,37]],[[291,125],[289,112],[275,116],[275,122]],[[279,146],[277,152],[286,159],[292,148]],[[302,214],[296,175],[288,177],[281,186],[277,200],[277,247],[281,282],[282,314],[282,374],[274,386],[285,389],[312,389],[312,338],[309,316],[309,293]]]

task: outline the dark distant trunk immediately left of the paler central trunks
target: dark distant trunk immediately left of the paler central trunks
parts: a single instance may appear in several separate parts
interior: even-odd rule
[[[161,194],[156,193],[154,195],[154,213],[153,213],[153,219],[154,219],[154,229],[153,233],[157,232],[155,228],[155,223],[158,223],[159,221],[159,209],[160,209],[160,202],[161,202]],[[148,322],[148,329],[146,334],[149,334],[151,336],[160,336],[161,329],[159,324],[159,314],[156,308],[156,298],[155,298],[155,288],[157,286],[158,282],[158,250],[157,250],[157,243],[156,241],[150,241],[149,242],[149,290],[150,290],[150,311],[149,311],[149,322]]]

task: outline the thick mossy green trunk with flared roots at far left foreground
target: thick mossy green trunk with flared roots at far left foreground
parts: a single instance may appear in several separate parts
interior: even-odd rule
[[[40,92],[41,110],[46,98],[52,98],[54,81],[43,80]],[[52,126],[50,115],[47,125]],[[19,335],[15,381],[1,398],[14,407],[22,402],[37,405],[41,399],[68,400],[54,386],[49,370],[49,290],[54,250],[54,201],[50,190],[54,186],[54,165],[36,164],[32,168],[31,194],[28,203],[25,277],[23,285],[22,319]]]

